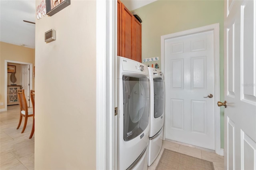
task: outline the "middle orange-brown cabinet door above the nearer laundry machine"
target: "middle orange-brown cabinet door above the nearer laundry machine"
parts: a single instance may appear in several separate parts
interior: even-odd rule
[[[122,4],[122,57],[132,59],[132,22],[134,16]]]

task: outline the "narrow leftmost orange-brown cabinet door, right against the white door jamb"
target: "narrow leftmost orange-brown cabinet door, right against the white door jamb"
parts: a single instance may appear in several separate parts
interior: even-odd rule
[[[117,0],[117,55],[122,56],[122,2]]]

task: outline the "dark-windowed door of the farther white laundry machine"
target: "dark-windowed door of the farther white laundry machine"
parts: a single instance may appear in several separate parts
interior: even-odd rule
[[[164,81],[161,77],[154,78],[154,118],[164,113]]]

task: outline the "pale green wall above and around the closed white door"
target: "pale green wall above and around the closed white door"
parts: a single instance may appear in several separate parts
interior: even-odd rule
[[[161,36],[220,23],[220,101],[224,101],[224,1],[157,0],[134,10],[142,19],[142,61],[161,57]],[[150,66],[161,60],[149,62]],[[148,65],[148,62],[145,63]],[[220,107],[221,148],[224,148],[224,109]]]

